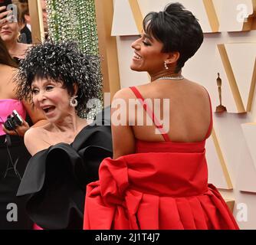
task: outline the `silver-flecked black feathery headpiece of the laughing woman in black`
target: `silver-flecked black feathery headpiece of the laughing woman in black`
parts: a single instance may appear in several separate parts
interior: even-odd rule
[[[31,83],[38,78],[63,83],[71,96],[74,83],[77,84],[78,116],[88,113],[87,102],[100,98],[102,92],[100,58],[82,54],[74,41],[45,42],[31,47],[15,76],[19,99],[31,101]]]

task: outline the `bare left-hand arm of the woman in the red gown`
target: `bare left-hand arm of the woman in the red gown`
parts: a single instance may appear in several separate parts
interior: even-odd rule
[[[120,90],[113,96],[111,104],[111,130],[114,159],[135,152],[133,128],[129,126],[128,109],[130,98],[132,98],[130,89]],[[118,125],[121,121],[120,119],[122,119],[123,125]]]

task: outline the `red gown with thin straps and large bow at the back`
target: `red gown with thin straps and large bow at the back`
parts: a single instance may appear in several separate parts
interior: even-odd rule
[[[205,140],[211,132],[212,119]],[[162,136],[165,142],[137,140],[135,154],[103,160],[99,181],[87,185],[84,229],[238,229],[221,194],[208,185],[205,140],[172,142]]]

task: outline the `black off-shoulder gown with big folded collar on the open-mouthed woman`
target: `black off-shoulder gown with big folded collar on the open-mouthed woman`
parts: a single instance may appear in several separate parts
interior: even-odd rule
[[[98,179],[103,158],[112,156],[110,120],[96,122],[71,144],[52,145],[28,162],[17,195],[29,195],[26,210],[40,227],[82,229],[86,185]]]

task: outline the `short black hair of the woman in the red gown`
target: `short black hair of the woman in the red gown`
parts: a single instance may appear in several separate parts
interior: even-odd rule
[[[143,29],[162,42],[162,52],[179,52],[176,72],[184,67],[204,39],[197,18],[179,3],[166,5],[164,11],[149,12],[143,20]]]

